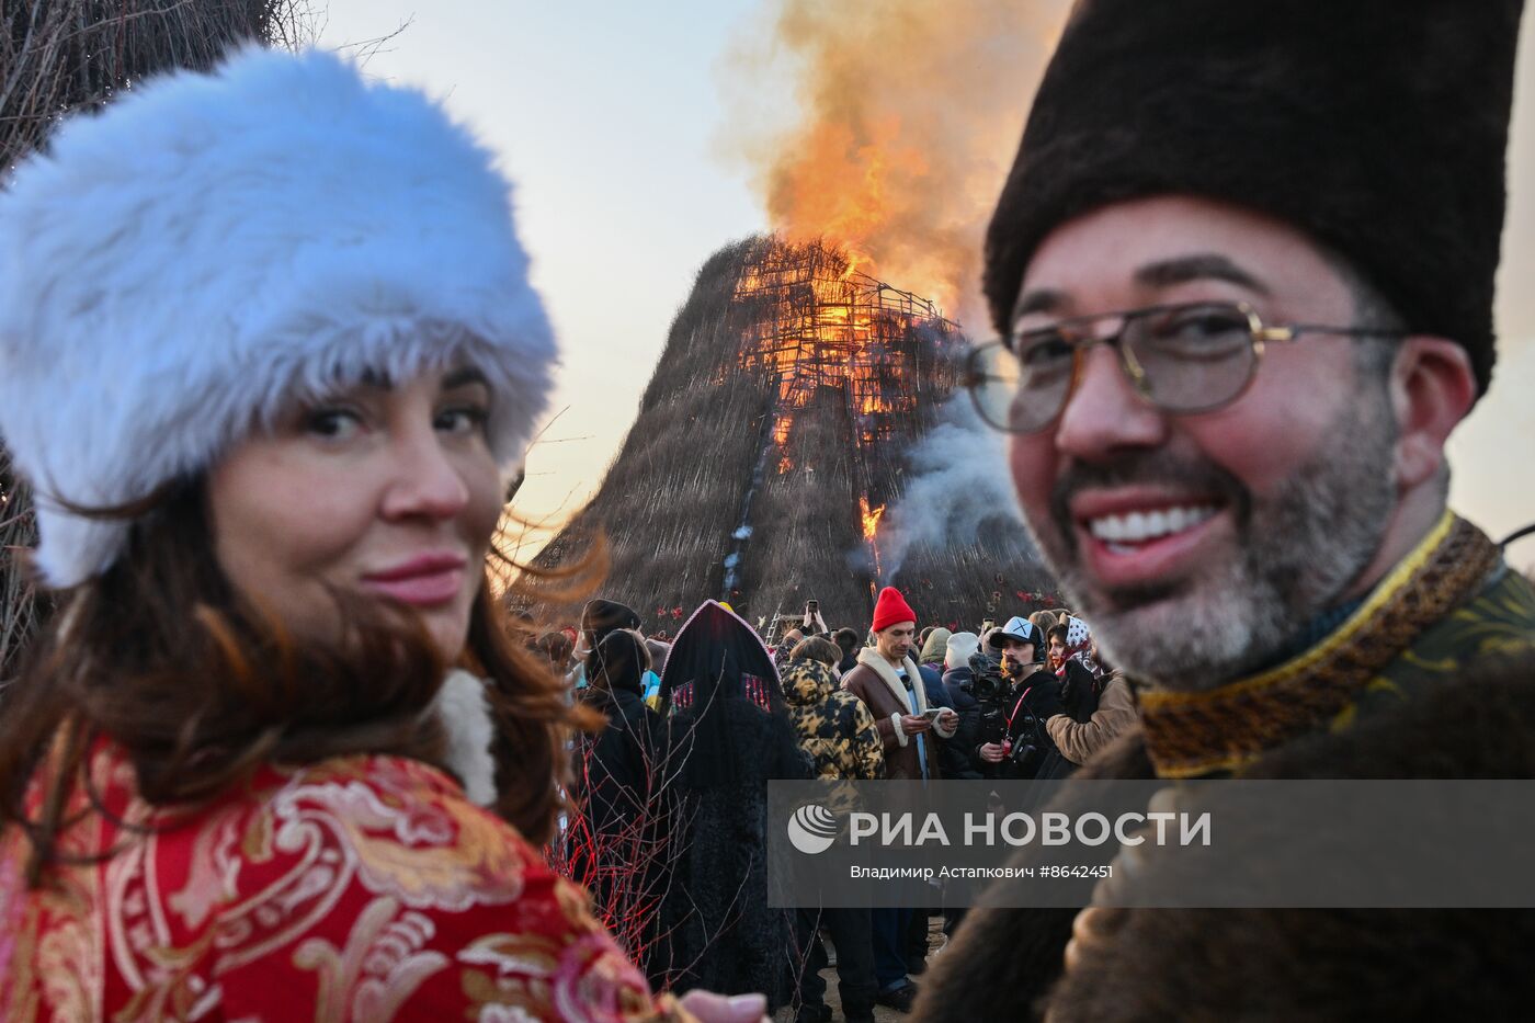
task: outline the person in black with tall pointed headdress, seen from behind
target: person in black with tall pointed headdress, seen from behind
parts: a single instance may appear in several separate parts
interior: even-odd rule
[[[674,991],[792,997],[794,919],[768,906],[768,780],[810,776],[768,647],[706,601],[662,674],[672,879],[662,905]]]

